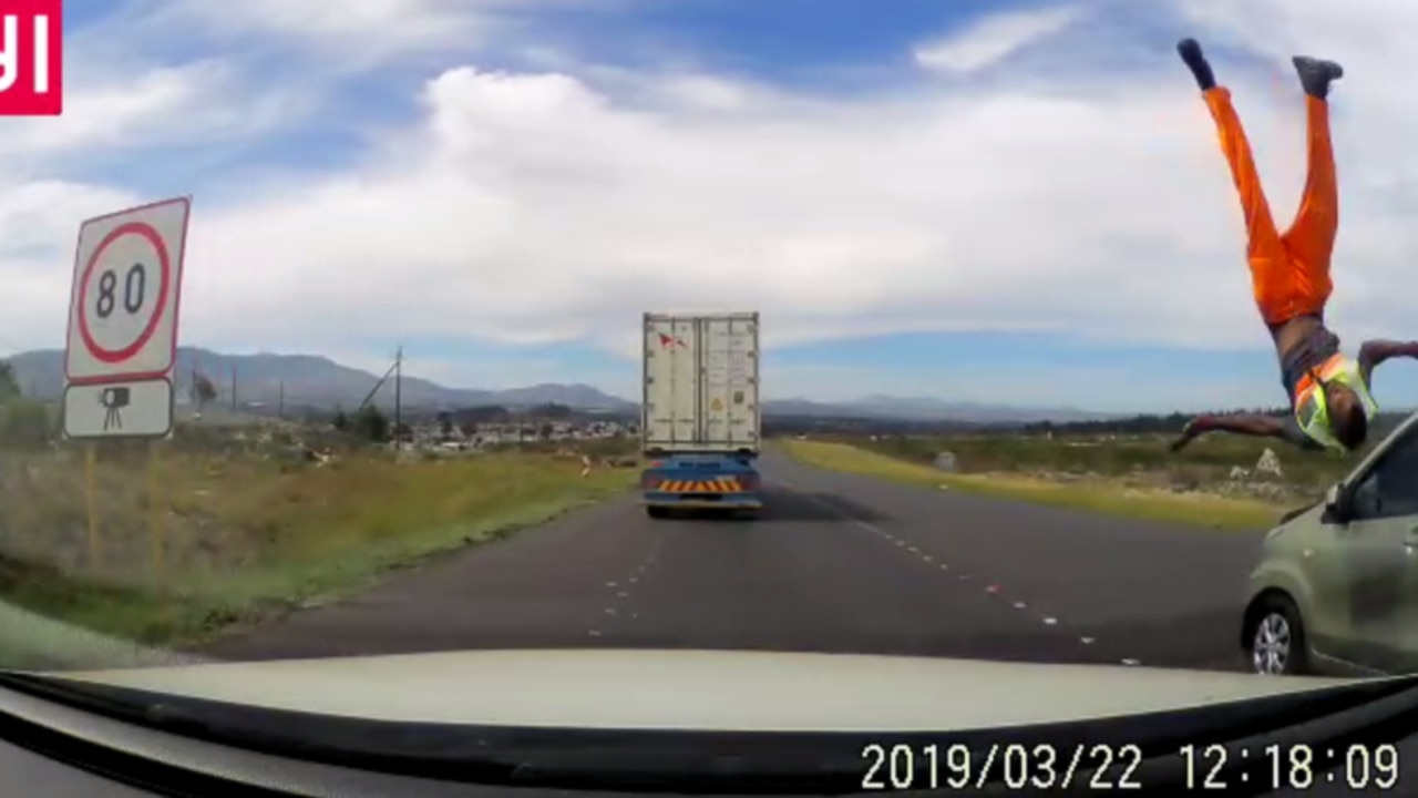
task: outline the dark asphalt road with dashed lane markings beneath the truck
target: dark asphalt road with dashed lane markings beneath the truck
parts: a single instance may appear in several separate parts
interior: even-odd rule
[[[1198,531],[763,459],[754,521],[625,497],[203,653],[709,647],[1236,669],[1259,534]]]

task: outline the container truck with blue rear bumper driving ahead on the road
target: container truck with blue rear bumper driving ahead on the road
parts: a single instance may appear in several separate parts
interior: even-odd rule
[[[645,513],[754,515],[759,452],[759,314],[644,315],[641,490]]]

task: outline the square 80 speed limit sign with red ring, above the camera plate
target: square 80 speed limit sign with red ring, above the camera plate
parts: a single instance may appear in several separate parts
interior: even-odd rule
[[[177,355],[190,197],[79,226],[64,373],[69,385],[162,379]]]

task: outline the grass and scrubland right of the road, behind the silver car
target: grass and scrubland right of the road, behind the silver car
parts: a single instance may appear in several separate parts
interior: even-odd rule
[[[1102,425],[953,434],[825,433],[788,437],[783,446],[824,469],[1222,530],[1273,524],[1285,511],[1319,500],[1358,460],[1232,436],[1202,437],[1171,453],[1171,432]]]

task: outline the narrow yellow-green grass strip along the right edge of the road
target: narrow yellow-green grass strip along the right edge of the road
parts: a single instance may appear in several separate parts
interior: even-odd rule
[[[866,446],[869,444],[871,442],[866,443]],[[976,439],[976,444],[977,449],[986,447],[981,439]],[[1037,476],[1037,471],[1042,470],[1039,461],[1048,461],[1046,457],[1035,456],[1031,459],[1020,456],[1018,452],[1015,452],[1012,461],[1014,473],[1001,467],[1010,463],[1003,457],[997,459],[997,470],[943,473],[930,464],[915,463],[899,454],[875,452],[864,444],[786,440],[783,446],[790,456],[801,463],[835,471],[930,487],[947,486],[950,490],[1017,501],[1088,510],[1124,518],[1184,523],[1215,530],[1265,528],[1273,524],[1283,510],[1293,505],[1293,503],[1283,504],[1278,500],[1215,496],[1195,490],[1177,493],[1164,487],[1153,487],[1147,486],[1146,480],[1136,479],[1139,473],[1146,473],[1146,469],[1120,469],[1120,471],[1134,476],[1133,484],[1122,483],[1116,474],[1109,479],[1096,471],[1092,471],[1092,479],[1068,481],[1059,479],[1062,474],[1073,471],[1059,471],[1049,479]],[[998,442],[995,446],[1022,449],[1017,440]],[[947,449],[932,447],[933,452]],[[1052,446],[1046,449],[1052,449]],[[1109,456],[1116,457],[1116,449]],[[963,460],[959,453],[957,459]]]

